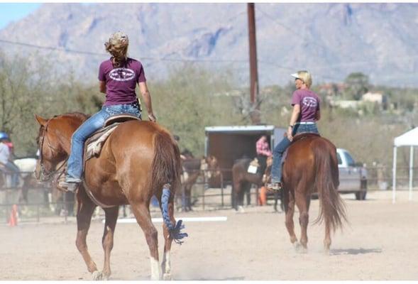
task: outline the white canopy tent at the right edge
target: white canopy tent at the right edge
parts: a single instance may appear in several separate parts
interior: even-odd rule
[[[393,143],[393,180],[392,180],[392,202],[396,200],[396,154],[397,148],[409,146],[409,200],[412,200],[412,178],[414,167],[414,147],[418,146],[418,127],[397,136]]]

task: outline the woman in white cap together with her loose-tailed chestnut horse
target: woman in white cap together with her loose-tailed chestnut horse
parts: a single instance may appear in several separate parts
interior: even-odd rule
[[[325,221],[324,248],[329,251],[331,230],[341,227],[342,220],[346,220],[345,206],[337,191],[339,169],[336,147],[331,141],[319,136],[316,121],[321,117],[320,101],[317,94],[309,89],[312,85],[311,75],[307,71],[299,71],[292,76],[295,77],[296,86],[292,96],[292,116],[287,136],[273,151],[272,176],[268,188],[283,190],[290,241],[302,251],[307,250],[311,194],[318,192],[321,210],[317,222]],[[282,172],[282,155],[287,148]],[[299,224],[302,227],[300,243],[293,223],[295,204],[299,209]]]

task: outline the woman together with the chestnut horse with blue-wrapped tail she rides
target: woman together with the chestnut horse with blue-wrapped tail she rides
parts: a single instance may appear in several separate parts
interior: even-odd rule
[[[110,253],[119,206],[130,204],[136,221],[145,234],[150,250],[151,278],[163,276],[170,279],[170,249],[172,241],[181,242],[187,236],[181,233],[182,222],[175,222],[173,201],[180,188],[180,151],[172,135],[155,123],[150,96],[145,84],[141,62],[126,58],[128,37],[115,33],[106,43],[113,57],[101,64],[99,80],[101,91],[106,91],[106,102],[97,114],[89,117],[72,113],[43,119],[36,116],[40,129],[38,146],[40,157],[35,170],[38,180],[55,180],[62,175],[68,159],[67,180],[61,186],[77,190],[77,240],[87,269],[95,280],[107,279],[111,274]],[[135,87],[139,84],[148,108],[150,121],[134,119],[125,121],[110,134],[98,156],[84,162],[83,146],[91,133],[104,126],[114,114],[133,114],[141,118],[136,102]],[[158,198],[163,213],[165,239],[163,263],[158,261],[157,229],[150,217],[151,197]],[[106,221],[102,245],[104,249],[103,271],[87,251],[86,237],[94,208],[104,209]],[[163,273],[163,275],[161,275]]]

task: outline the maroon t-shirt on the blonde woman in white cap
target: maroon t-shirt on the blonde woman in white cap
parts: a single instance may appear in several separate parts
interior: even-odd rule
[[[300,116],[297,121],[317,121],[315,114],[319,111],[320,102],[318,95],[310,89],[297,89],[293,92],[292,106],[300,105]]]

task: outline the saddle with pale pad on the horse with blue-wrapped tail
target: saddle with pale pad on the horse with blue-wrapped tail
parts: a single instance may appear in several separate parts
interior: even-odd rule
[[[110,134],[116,129],[117,126],[119,126],[119,124],[130,120],[141,119],[131,114],[118,114],[111,116],[104,122],[103,128],[94,132],[92,136],[87,138],[87,141],[84,143],[84,164],[90,158],[100,155],[101,147],[103,146],[104,142],[107,140],[107,138],[109,138]]]

